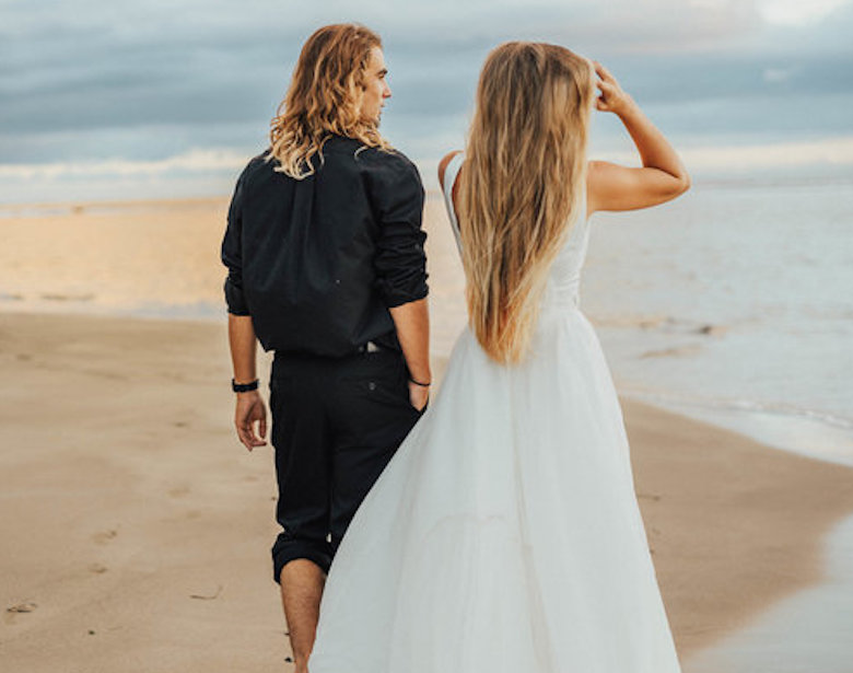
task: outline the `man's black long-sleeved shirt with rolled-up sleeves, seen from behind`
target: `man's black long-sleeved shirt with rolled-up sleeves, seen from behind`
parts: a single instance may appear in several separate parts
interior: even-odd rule
[[[389,308],[426,297],[423,186],[400,152],[331,137],[294,179],[253,159],[229,210],[229,312],[250,315],[265,350],[339,357],[399,348]]]

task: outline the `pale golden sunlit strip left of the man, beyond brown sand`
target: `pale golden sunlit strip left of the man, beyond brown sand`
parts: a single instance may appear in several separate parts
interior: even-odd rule
[[[0,219],[0,306],[115,312],[222,301],[227,200],[30,206]]]

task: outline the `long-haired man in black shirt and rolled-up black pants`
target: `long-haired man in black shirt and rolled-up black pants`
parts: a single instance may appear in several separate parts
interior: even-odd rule
[[[266,443],[256,339],[276,351],[272,557],[297,673],[335,550],[431,383],[423,187],[378,132],[386,74],[363,26],[308,38],[271,148],[237,181],[222,244],[235,425],[249,451]]]

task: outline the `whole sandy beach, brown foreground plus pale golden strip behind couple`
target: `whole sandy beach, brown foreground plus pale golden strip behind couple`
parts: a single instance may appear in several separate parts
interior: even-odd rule
[[[249,454],[232,429],[226,205],[34,206],[0,220],[9,670],[252,672],[289,655],[270,577],[271,452]],[[465,315],[435,199],[428,230],[440,380]],[[823,538],[853,514],[853,469],[633,399],[623,409],[689,672],[692,655],[822,581]]]

